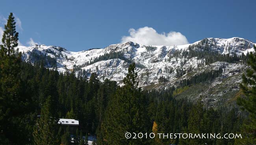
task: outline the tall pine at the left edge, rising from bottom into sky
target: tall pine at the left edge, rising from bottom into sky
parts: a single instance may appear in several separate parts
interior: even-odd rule
[[[29,142],[24,138],[24,133],[19,134],[26,130],[26,123],[22,119],[24,114],[30,112],[26,109],[31,102],[30,96],[22,93],[21,53],[14,51],[17,40],[18,33],[11,13],[5,25],[3,45],[0,45],[0,144],[6,144],[8,140],[13,144]]]

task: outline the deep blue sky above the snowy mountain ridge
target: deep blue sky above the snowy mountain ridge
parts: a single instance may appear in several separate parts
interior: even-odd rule
[[[256,0],[2,0],[0,27],[10,12],[19,18],[24,46],[37,42],[82,51],[137,39],[145,44],[256,40]]]

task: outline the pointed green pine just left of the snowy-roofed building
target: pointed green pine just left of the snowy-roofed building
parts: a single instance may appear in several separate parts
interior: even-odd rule
[[[33,137],[35,145],[58,145],[56,118],[51,116],[51,97],[49,96],[41,109],[40,119],[35,125]]]

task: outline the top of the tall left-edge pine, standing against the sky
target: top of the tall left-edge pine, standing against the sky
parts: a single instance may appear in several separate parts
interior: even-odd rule
[[[4,25],[4,34],[2,37],[2,43],[4,52],[7,52],[8,56],[10,56],[12,53],[14,53],[14,48],[18,46],[18,37],[19,33],[16,32],[16,22],[13,17],[13,13],[10,13],[7,24]]]

